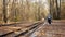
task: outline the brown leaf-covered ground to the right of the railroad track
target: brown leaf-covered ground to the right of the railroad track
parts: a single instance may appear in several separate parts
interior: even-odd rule
[[[52,24],[44,24],[31,37],[65,37],[65,20],[53,20]]]

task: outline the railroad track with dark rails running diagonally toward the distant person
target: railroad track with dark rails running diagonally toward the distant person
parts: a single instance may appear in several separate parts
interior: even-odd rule
[[[41,24],[43,24],[43,22],[38,22],[32,24],[31,26],[28,26],[28,29],[23,30],[22,28],[13,30],[13,32],[9,32],[6,34],[2,34],[0,35],[0,37],[20,37],[20,36],[25,36],[28,34],[34,33]]]

